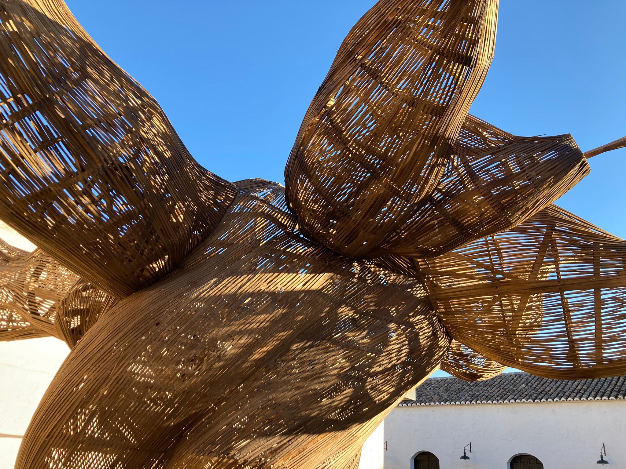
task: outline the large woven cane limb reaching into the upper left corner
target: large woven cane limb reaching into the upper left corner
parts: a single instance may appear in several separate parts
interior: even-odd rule
[[[61,0],[0,1],[0,214],[123,297],[161,278],[234,196]]]

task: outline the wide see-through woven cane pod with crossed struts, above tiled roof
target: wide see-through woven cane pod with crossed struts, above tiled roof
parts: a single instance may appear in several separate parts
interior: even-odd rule
[[[503,265],[483,268],[499,245]],[[540,376],[626,373],[626,241],[557,206],[421,261],[448,332]]]

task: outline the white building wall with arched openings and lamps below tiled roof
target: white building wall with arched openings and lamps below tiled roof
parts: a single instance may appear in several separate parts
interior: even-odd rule
[[[384,469],[412,469],[430,451],[441,469],[508,469],[531,454],[545,469],[626,468],[626,401],[559,401],[395,408],[384,421]],[[471,441],[469,461],[459,459]]]

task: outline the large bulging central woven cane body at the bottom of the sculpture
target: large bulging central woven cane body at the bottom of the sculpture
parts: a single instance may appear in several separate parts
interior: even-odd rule
[[[436,370],[449,338],[418,279],[302,238],[278,184],[237,187],[175,273],[74,346],[18,467],[82,467],[105,445],[128,468],[314,468]]]

